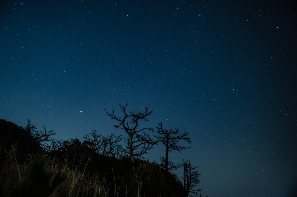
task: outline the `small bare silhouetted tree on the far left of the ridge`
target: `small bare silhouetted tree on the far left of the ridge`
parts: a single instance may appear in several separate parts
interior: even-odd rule
[[[43,125],[44,130],[38,131],[36,126],[34,126],[34,124],[31,124],[30,122],[31,121],[28,119],[28,124],[26,124],[26,127],[24,129],[30,132],[33,139],[36,140],[36,142],[38,142],[41,146],[45,147],[46,142],[53,140],[50,138],[50,136],[56,135],[54,130],[47,131],[46,127]]]

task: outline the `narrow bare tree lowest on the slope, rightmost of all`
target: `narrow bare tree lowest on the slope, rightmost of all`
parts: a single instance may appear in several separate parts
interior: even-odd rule
[[[197,167],[193,167],[190,161],[186,161],[183,159],[184,163],[180,164],[184,167],[184,176],[182,177],[184,180],[184,197],[194,197],[197,196],[201,189],[194,190],[193,187],[197,186],[200,182],[198,171],[195,171]],[[201,196],[201,194],[200,194]]]

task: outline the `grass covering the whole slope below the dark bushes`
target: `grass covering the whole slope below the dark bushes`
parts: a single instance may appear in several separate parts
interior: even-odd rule
[[[78,169],[67,159],[59,161],[43,154],[29,155],[22,162],[18,152],[15,148],[9,152],[0,150],[3,161],[0,164],[0,195],[3,197],[164,197],[166,184],[172,184],[170,182],[175,178],[148,161],[138,161],[132,167],[115,172],[111,168],[112,174],[105,170],[105,176],[102,176],[102,173],[86,170],[91,158],[83,169]]]

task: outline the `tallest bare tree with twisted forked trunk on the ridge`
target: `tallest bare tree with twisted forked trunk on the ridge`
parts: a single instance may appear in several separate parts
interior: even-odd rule
[[[129,156],[134,163],[134,156],[142,156],[144,153],[147,152],[147,150],[150,150],[153,148],[153,145],[156,144],[157,142],[153,140],[147,131],[152,131],[154,132],[153,128],[142,128],[142,129],[137,129],[139,121],[144,120],[144,121],[149,121],[147,119],[147,116],[151,115],[151,113],[154,111],[149,110],[149,108],[144,107],[146,110],[135,113],[133,111],[127,111],[126,105],[120,105],[121,111],[124,113],[124,117],[120,118],[115,115],[115,110],[112,110],[111,113],[108,113],[105,109],[104,111],[108,116],[110,116],[110,119],[115,119],[116,121],[119,122],[119,124],[114,125],[114,127],[121,129],[124,129],[125,132],[128,134],[128,137],[125,138],[127,141],[127,149],[129,150]]]

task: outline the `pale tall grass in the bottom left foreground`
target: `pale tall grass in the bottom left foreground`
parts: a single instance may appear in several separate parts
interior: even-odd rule
[[[105,177],[73,169],[66,161],[58,162],[44,155],[29,156],[19,163],[14,149],[2,155],[0,164],[0,196],[109,196],[111,185]]]

